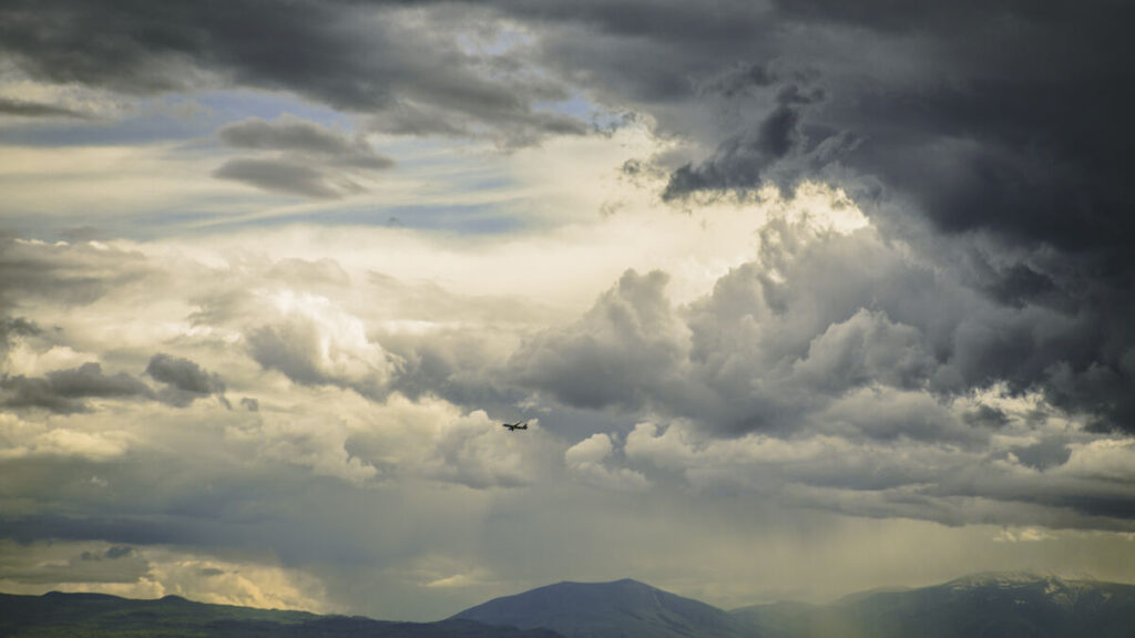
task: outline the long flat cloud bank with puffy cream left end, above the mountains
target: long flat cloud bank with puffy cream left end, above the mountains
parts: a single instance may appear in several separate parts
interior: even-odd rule
[[[1095,469],[1085,471],[1068,459],[1042,473],[1016,457],[997,460],[1006,454],[1001,445],[951,450],[934,438],[871,442],[804,433],[723,440],[683,423],[646,422],[628,435],[624,453],[646,468],[679,472],[699,493],[755,494],[794,507],[951,526],[1132,527],[1121,505],[1130,486],[1110,482],[1117,475],[1102,469],[1107,463],[1093,462]],[[1118,442],[1085,440],[1074,446],[1073,457],[1077,451],[1084,460],[1099,455],[1094,461],[1113,454],[1111,468],[1130,461]]]

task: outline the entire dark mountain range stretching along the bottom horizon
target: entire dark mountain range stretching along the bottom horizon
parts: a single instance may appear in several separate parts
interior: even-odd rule
[[[634,579],[561,581],[494,598],[445,620],[213,605],[170,595],[0,594],[0,638],[1130,638],[1135,585],[984,572],[939,585],[780,602],[729,612]]]

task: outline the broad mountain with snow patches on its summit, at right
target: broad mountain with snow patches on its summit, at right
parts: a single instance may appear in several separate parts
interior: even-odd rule
[[[1130,638],[1135,586],[1023,573],[730,612],[763,638]]]

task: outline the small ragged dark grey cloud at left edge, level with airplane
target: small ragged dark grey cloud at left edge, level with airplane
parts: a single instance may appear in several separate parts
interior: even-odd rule
[[[69,414],[87,411],[86,398],[152,398],[153,391],[126,372],[106,375],[92,362],[43,377],[6,376],[0,379],[0,397],[8,408],[43,408]]]

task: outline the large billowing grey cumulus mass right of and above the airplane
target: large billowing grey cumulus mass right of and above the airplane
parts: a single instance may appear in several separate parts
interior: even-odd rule
[[[518,383],[577,408],[663,410],[733,435],[806,428],[833,405],[855,413],[831,422],[868,437],[974,442],[997,423],[981,409],[965,421],[917,413],[932,403],[893,422],[880,408],[873,419],[871,401],[848,402],[872,387],[942,400],[995,386],[1042,392],[1110,423],[1133,409],[1127,372],[1091,363],[1124,352],[1108,354],[1126,328],[1101,330],[1104,310],[1002,305],[967,286],[965,268],[869,227],[840,234],[774,219],[760,238],[755,261],[688,308],[670,307],[661,275],[628,274],[582,319],[529,339],[511,361]]]

